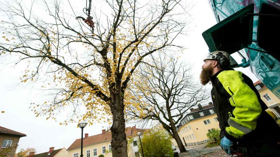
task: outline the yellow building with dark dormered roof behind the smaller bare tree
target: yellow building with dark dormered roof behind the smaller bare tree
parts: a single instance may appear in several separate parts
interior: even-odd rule
[[[209,141],[206,134],[212,129],[220,129],[212,102],[206,106],[199,104],[198,108],[191,109],[191,112],[177,126],[177,132],[185,146],[199,145]],[[172,142],[177,146],[174,139]]]

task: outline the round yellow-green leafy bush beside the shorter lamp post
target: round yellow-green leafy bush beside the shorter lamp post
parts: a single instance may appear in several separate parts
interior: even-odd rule
[[[144,132],[143,137],[141,137],[144,156],[173,157],[174,152],[171,139],[171,135],[162,127],[153,128],[149,132]],[[142,156],[140,140],[137,143],[138,151]]]

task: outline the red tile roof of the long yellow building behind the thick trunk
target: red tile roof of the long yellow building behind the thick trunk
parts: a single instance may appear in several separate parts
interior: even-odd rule
[[[129,135],[136,135],[137,132],[144,132],[147,131],[145,129],[137,129],[134,127],[127,127],[125,128],[125,134],[126,136]],[[99,142],[104,142],[104,141],[108,141],[112,139],[112,134],[111,132],[105,132],[103,134],[97,134],[97,135],[93,135],[93,136],[88,136],[83,138],[83,146],[87,146],[90,144],[95,144],[95,143],[99,143]],[[81,138],[75,140],[71,146],[69,146],[69,148],[67,148],[67,150],[69,149],[74,149],[74,148],[79,148],[81,147]]]

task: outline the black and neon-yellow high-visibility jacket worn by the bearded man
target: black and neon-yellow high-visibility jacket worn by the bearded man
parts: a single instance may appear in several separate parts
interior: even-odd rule
[[[220,123],[220,138],[226,136],[231,141],[245,138],[251,142],[275,140],[275,136],[263,134],[271,134],[271,129],[280,131],[280,127],[264,111],[267,106],[248,76],[229,68],[209,79],[213,85],[211,95]]]

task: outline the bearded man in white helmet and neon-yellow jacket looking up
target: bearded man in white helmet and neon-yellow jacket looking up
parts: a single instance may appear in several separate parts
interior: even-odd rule
[[[221,129],[221,148],[229,155],[233,147],[241,146],[247,156],[280,156],[280,127],[265,112],[253,81],[230,67],[225,51],[209,53],[205,58],[200,81],[211,81],[212,101]]]

